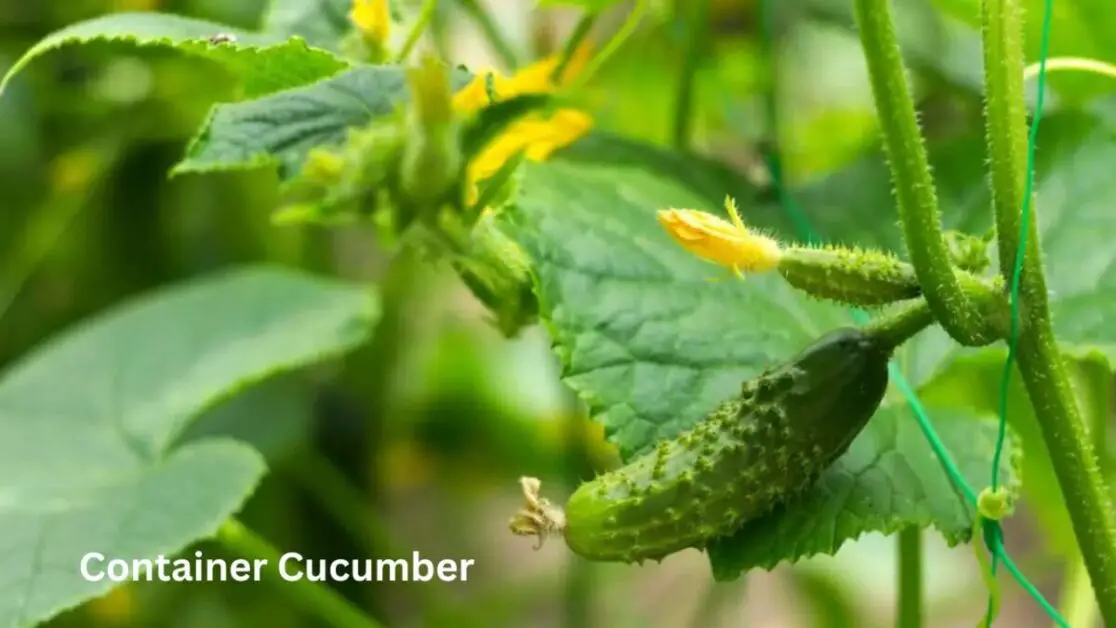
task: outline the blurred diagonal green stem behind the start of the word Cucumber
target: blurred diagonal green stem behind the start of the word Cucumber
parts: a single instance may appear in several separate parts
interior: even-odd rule
[[[260,571],[266,580],[280,587],[306,610],[317,615],[327,625],[336,628],[383,628],[383,625],[354,607],[336,591],[324,584],[301,580],[283,580],[279,576],[279,552],[237,520],[229,520],[218,531],[217,540],[230,551],[247,559],[268,561]]]

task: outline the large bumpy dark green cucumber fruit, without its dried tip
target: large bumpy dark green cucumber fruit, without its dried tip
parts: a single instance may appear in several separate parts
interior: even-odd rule
[[[840,329],[742,386],[703,421],[575,491],[566,544],[642,562],[704,548],[808,489],[883,399],[891,348]]]

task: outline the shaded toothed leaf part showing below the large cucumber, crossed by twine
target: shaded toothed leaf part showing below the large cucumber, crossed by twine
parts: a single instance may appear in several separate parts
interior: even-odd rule
[[[988,483],[995,446],[994,415],[929,407],[934,428],[954,463],[974,486]],[[1013,444],[1014,435],[1011,435]],[[1021,452],[1000,463],[1012,494],[1020,489]],[[910,409],[891,404],[872,418],[847,454],[830,466],[805,497],[745,524],[709,547],[713,577],[771,569],[785,560],[834,554],[868,531],[892,533],[912,524],[933,525],[945,542],[968,542],[977,510],[953,490]]]

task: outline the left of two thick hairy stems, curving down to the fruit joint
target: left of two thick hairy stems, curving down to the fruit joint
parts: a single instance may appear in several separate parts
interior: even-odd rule
[[[918,284],[950,336],[962,345],[988,345],[997,335],[985,329],[979,310],[962,291],[942,236],[942,218],[926,147],[892,26],[891,0],[855,0],[853,4],[904,239]]]

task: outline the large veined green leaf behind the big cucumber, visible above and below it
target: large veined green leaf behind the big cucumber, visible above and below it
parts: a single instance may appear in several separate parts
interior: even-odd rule
[[[749,199],[740,195],[742,210],[761,216]],[[724,271],[676,247],[654,211],[709,205],[667,177],[567,161],[528,164],[506,214],[537,274],[564,379],[625,460],[693,425],[742,380],[850,323],[843,308],[809,300],[775,274],[708,281]],[[993,421],[949,415],[935,425],[966,472],[991,466]],[[1004,473],[1016,487],[1016,468]],[[968,539],[972,520],[905,409],[891,405],[805,497],[719,545],[716,576],[831,553],[863,533],[908,525],[934,525],[955,543]]]

